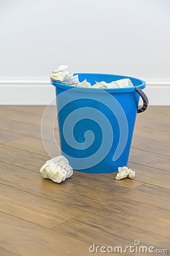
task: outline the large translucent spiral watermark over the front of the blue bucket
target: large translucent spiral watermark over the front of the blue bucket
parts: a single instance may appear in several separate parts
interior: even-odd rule
[[[57,114],[51,108],[56,102]],[[54,136],[56,117],[61,148]],[[104,90],[71,88],[59,93],[46,107],[41,121],[42,143],[51,158],[55,151],[61,150],[74,170],[86,170],[107,157],[112,148],[116,123],[119,139],[113,161],[121,156],[128,141],[128,121],[121,104]]]

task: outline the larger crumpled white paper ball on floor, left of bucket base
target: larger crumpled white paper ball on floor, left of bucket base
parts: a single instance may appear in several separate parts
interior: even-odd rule
[[[41,167],[40,173],[45,179],[51,179],[56,183],[61,183],[73,175],[73,168],[63,155],[52,158]]]

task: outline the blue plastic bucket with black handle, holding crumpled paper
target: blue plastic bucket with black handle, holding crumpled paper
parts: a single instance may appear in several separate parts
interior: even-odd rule
[[[128,163],[137,112],[147,108],[147,97],[141,89],[145,81],[134,77],[78,73],[79,81],[87,79],[112,82],[129,78],[134,86],[98,89],[61,84],[56,86],[61,153],[73,170],[105,174],[117,172]],[[138,109],[139,96],[143,106]]]

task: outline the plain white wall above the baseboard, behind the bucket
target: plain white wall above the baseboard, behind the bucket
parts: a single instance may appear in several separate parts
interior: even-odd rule
[[[1,0],[0,86],[40,84],[69,64],[71,72],[139,77],[167,94],[169,10],[169,0]]]

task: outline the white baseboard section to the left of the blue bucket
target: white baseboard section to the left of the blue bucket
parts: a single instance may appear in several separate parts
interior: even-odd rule
[[[48,105],[54,96],[50,79],[0,80],[0,105]]]

